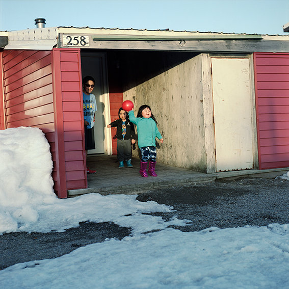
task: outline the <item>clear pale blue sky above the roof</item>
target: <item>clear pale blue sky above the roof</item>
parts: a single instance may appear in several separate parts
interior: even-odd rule
[[[0,0],[0,31],[46,27],[283,33],[289,0]]]

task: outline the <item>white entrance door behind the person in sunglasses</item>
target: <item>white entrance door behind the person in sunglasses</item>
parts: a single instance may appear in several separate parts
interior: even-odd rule
[[[90,75],[95,80],[95,86],[92,93],[95,95],[97,104],[94,124],[95,149],[88,150],[88,154],[111,154],[111,134],[106,127],[106,123],[110,123],[106,54],[82,51],[81,67],[82,78],[86,75]]]

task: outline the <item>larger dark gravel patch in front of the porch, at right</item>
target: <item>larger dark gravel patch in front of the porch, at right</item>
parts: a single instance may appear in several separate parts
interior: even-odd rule
[[[182,231],[289,223],[289,181],[282,179],[218,180],[154,190],[139,195],[138,200],[173,206],[176,212],[164,217],[174,215],[192,221],[188,226],[178,227]]]

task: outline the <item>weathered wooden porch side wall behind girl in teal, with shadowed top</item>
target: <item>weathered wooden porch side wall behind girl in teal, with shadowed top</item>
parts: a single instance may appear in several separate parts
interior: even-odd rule
[[[164,138],[158,162],[206,172],[202,58],[172,52],[125,57],[123,99],[134,102],[135,115],[142,104],[151,107]]]

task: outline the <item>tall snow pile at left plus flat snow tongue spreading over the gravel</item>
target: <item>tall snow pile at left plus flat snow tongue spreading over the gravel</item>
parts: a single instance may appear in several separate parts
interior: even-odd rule
[[[88,194],[58,199],[52,189],[49,144],[38,128],[0,130],[0,234],[50,232],[77,227],[80,222],[114,222],[136,232],[164,229],[186,221],[143,213],[170,212],[156,202],[139,202],[136,195]]]

